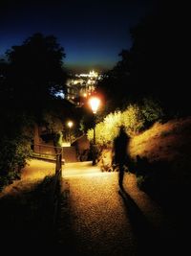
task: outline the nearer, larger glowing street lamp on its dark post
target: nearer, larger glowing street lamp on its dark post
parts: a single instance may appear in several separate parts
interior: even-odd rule
[[[89,104],[94,114],[93,165],[96,165],[96,111],[100,105],[100,99],[93,96],[89,99]]]

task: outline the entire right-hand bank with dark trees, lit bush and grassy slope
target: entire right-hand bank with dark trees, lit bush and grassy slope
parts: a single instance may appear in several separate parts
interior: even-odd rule
[[[124,125],[131,136],[131,172],[142,190],[166,206],[169,200],[175,203],[174,198],[185,202],[191,184],[191,105],[183,61],[187,48],[182,43],[186,35],[183,28],[176,30],[175,12],[170,19],[169,13],[163,6],[131,29],[131,49],[121,51],[121,60],[98,83],[105,111],[96,124],[102,170],[114,170],[112,143]],[[88,137],[93,139],[93,129]]]

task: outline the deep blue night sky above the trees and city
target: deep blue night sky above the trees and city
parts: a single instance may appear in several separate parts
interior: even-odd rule
[[[108,69],[131,47],[129,28],[156,5],[157,0],[1,0],[0,56],[40,32],[56,36],[69,68]]]

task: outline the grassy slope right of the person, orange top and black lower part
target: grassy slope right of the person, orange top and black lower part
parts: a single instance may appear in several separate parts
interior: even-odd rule
[[[190,145],[191,117],[157,123],[132,138],[130,155],[147,157],[149,162],[146,178],[141,180],[143,190],[165,204],[172,198],[186,201],[191,187]]]

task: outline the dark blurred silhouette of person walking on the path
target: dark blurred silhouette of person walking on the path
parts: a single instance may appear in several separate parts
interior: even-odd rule
[[[125,131],[124,126],[120,126],[117,137],[113,143],[114,163],[118,167],[118,185],[121,190],[123,188],[123,177],[125,172],[125,165],[127,164],[128,154],[127,147],[130,137]]]

